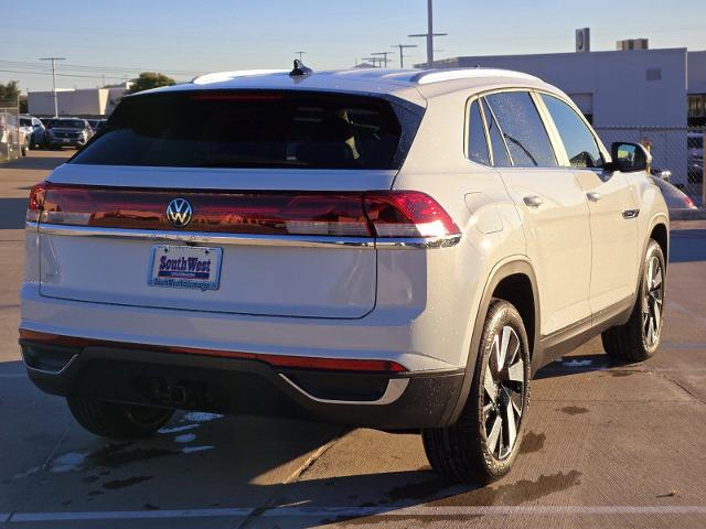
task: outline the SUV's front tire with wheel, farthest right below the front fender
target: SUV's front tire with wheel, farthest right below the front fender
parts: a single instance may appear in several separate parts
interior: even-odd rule
[[[654,263],[659,263],[659,273],[651,269]],[[611,358],[621,363],[644,361],[656,353],[664,322],[665,272],[664,252],[655,240],[650,239],[630,320],[601,335],[603,349]]]

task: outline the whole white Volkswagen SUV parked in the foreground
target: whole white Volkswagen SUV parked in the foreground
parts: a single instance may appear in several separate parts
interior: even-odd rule
[[[655,353],[664,199],[633,143],[505,71],[211,74],[122,99],[33,187],[29,376],[108,438],[174,409],[420,430],[505,474],[532,376]]]

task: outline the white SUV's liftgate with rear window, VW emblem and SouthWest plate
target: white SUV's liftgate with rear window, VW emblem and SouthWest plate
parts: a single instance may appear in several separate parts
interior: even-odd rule
[[[400,126],[367,97],[126,98],[50,177],[41,293],[277,316],[361,317],[376,252],[363,191],[389,190]]]

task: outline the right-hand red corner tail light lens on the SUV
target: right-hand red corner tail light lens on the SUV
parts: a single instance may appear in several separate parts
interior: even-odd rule
[[[418,191],[366,193],[364,203],[377,237],[443,237],[461,233],[438,202]]]

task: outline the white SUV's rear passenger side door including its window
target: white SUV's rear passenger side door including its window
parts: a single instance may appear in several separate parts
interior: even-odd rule
[[[549,335],[590,317],[591,239],[588,205],[574,174],[560,168],[534,96],[484,96],[493,163],[523,218],[537,276],[541,331]]]

